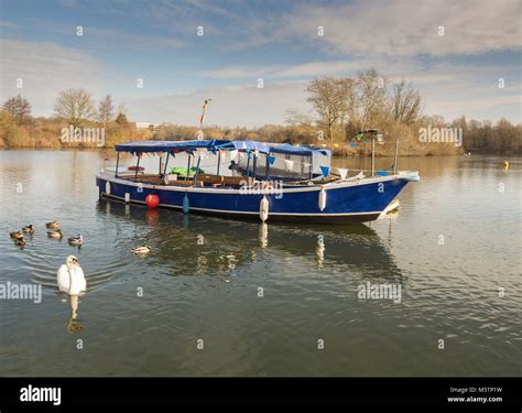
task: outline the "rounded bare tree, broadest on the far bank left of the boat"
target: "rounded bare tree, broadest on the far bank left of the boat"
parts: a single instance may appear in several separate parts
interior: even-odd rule
[[[83,121],[96,117],[96,108],[91,95],[84,89],[67,89],[58,94],[54,104],[56,115],[69,122],[74,128]]]

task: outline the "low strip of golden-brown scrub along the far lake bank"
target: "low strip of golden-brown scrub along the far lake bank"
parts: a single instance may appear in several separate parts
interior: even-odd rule
[[[421,142],[418,130],[424,123],[405,126],[390,122],[382,128],[383,143],[376,142],[377,156],[393,156],[395,140],[399,139],[399,152],[402,156],[456,155],[465,152],[522,154],[522,127],[500,121],[491,124],[466,124],[463,133],[463,145],[453,142]],[[7,112],[0,112],[1,149],[81,149],[98,148],[96,142],[63,142],[63,128],[68,126],[53,118],[32,118],[18,124]],[[85,122],[84,128],[99,128],[97,122]],[[204,128],[205,139],[257,140],[275,143],[300,143],[328,148],[335,156],[365,156],[370,154],[369,140],[318,139],[319,131],[314,128],[296,126],[267,124],[258,129],[247,128]],[[164,123],[155,129],[138,129],[134,122],[107,123],[104,148],[140,140],[188,140],[198,138],[198,128]]]

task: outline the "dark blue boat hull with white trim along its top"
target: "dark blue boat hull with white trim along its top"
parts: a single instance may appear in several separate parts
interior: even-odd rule
[[[101,198],[145,205],[146,196],[153,194],[159,196],[160,207],[184,210],[185,200],[185,210],[188,209],[191,214],[233,219],[260,220],[260,203],[265,196],[269,200],[269,222],[337,225],[377,219],[404,188],[407,180],[387,176],[365,182],[284,187],[265,192],[148,185],[108,175],[98,175],[96,183]],[[326,202],[320,202],[322,196],[326,196]]]

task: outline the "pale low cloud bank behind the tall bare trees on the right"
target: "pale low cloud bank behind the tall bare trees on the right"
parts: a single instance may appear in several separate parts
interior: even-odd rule
[[[443,115],[447,120],[461,115],[476,119],[498,119],[502,116],[520,122],[520,85],[508,83],[499,89],[498,77],[504,67],[499,64],[476,67],[472,64],[437,63],[423,65],[413,58],[355,59],[309,62],[300,65],[226,66],[198,75],[219,79],[242,79],[250,85],[209,88],[203,91],[135,100],[129,104],[131,118],[150,122],[196,124],[202,101],[213,98],[208,122],[228,126],[261,126],[282,123],[290,109],[309,111],[306,102],[307,79],[314,76],[350,76],[368,69],[372,64],[390,81],[404,78],[418,88],[425,112]],[[253,85],[261,76],[265,89]],[[290,80],[290,79],[296,80]],[[143,118],[140,118],[143,117]]]

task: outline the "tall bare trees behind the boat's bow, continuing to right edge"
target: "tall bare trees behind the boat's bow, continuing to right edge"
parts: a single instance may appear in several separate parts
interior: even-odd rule
[[[322,77],[311,80],[305,89],[313,113],[287,112],[287,124],[307,132],[314,140],[354,142],[361,131],[383,133],[392,143],[401,140],[402,152],[410,154],[452,154],[469,152],[522,153],[522,126],[507,119],[467,121],[465,117],[446,122],[441,116],[423,113],[420,91],[406,84],[380,75],[376,69],[360,72],[354,78]],[[463,146],[453,143],[425,143],[418,131],[427,126],[461,128]],[[363,150],[360,150],[362,152]],[[378,152],[390,153],[389,146]]]

